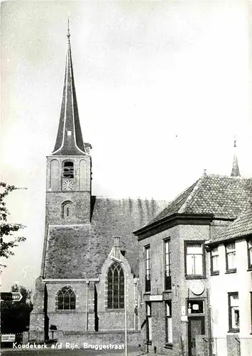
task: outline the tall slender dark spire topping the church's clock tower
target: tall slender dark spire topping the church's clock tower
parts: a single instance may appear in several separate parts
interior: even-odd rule
[[[75,80],[72,69],[72,53],[70,45],[69,16],[67,19],[67,58],[65,64],[65,80],[60,111],[60,122],[52,155],[88,155],[82,139],[77,98],[75,93]]]

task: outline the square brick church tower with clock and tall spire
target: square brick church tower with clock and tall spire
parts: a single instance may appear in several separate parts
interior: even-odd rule
[[[60,122],[53,153],[47,157],[46,224],[89,224],[91,168],[89,144],[84,144],[72,69],[70,31]]]

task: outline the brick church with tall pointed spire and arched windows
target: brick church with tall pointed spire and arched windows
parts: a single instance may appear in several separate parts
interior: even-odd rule
[[[47,157],[45,238],[28,340],[138,345],[138,241],[132,231],[167,201],[92,195],[92,146],[84,143],[70,33],[60,122]]]

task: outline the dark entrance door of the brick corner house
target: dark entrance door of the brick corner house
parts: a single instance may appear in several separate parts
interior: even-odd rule
[[[188,318],[188,356],[196,356],[196,335],[204,335],[204,316]]]

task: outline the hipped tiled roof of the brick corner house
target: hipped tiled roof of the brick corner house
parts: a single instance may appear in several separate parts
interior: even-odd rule
[[[213,214],[236,219],[252,201],[252,179],[204,175],[173,200],[152,223],[172,214]]]

